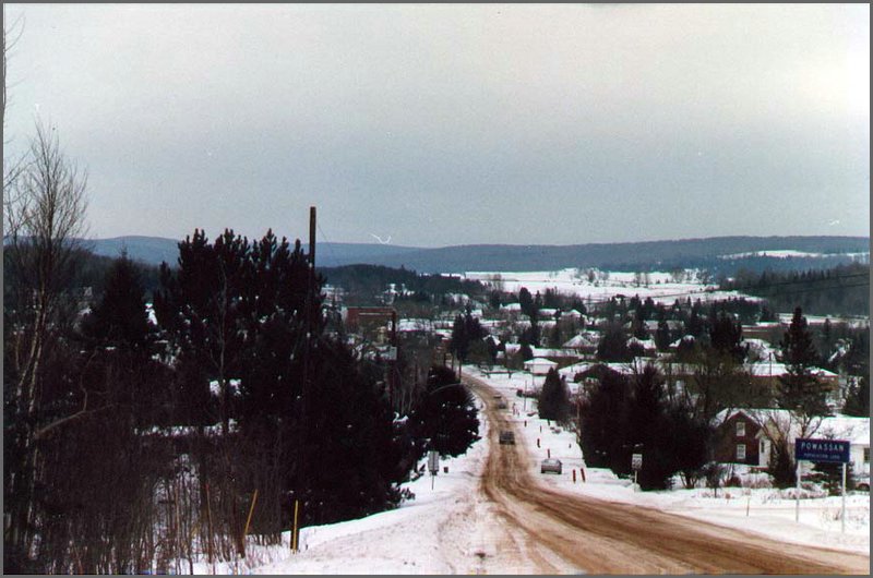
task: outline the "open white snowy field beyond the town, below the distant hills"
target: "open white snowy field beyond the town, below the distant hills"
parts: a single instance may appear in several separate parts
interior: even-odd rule
[[[468,272],[463,277],[513,293],[517,293],[522,287],[526,287],[531,293],[537,291],[545,293],[546,289],[553,289],[562,294],[577,296],[585,301],[595,303],[607,301],[618,294],[625,298],[639,296],[641,299],[650,297],[656,302],[667,304],[672,304],[677,299],[687,298],[702,301],[737,297],[757,299],[737,291],[717,291],[715,285],[702,282],[697,274],[698,272],[691,269],[683,272],[680,276],[663,272],[637,274],[595,269],[589,277],[587,269],[566,268],[518,273]]]

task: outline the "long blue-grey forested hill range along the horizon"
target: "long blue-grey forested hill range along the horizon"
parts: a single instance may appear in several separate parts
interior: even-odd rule
[[[89,241],[99,255],[175,265],[178,241],[156,237],[118,237]],[[554,270],[598,267],[612,270],[670,270],[706,267],[731,275],[739,269],[798,270],[870,262],[868,237],[714,237],[638,243],[577,245],[471,244],[435,249],[379,243],[319,243],[320,267],[352,264],[405,267],[418,273],[471,270]]]

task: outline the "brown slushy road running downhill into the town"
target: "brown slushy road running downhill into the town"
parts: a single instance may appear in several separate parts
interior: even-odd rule
[[[518,571],[533,564],[542,574],[870,574],[869,556],[549,489],[529,474],[523,436],[516,433],[517,445],[499,445],[499,432],[514,426],[497,409],[497,392],[481,380],[464,381],[483,400],[491,424],[481,492],[507,522],[495,556],[524,557]]]

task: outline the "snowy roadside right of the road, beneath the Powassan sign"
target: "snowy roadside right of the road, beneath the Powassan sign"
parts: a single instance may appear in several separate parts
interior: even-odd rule
[[[846,496],[846,533],[841,533],[839,496],[801,499],[800,521],[796,522],[796,502],[788,497],[790,492],[774,489],[723,487],[718,490],[718,497],[714,496],[713,490],[705,487],[663,492],[635,491],[630,480],[617,478],[608,469],[586,468],[575,433],[552,430],[553,423],[537,418],[535,400],[525,401],[516,397],[518,389],[524,390],[525,386],[528,390],[531,389],[529,374],[515,372],[511,378],[503,374],[486,377],[473,366],[464,366],[464,372],[489,383],[510,400],[507,411],[512,414],[511,419],[518,424],[530,454],[530,472],[551,486],[601,499],[648,506],[749,530],[785,542],[870,553],[870,494],[866,492]],[[542,376],[535,380],[536,386],[542,385]],[[563,473],[540,474],[539,462],[546,457],[560,459]],[[585,470],[585,482],[582,481],[581,468]]]

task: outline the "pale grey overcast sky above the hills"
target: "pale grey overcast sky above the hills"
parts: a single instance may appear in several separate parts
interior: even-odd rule
[[[870,233],[870,8],[5,5],[92,237]],[[11,139],[11,143],[10,143]]]

